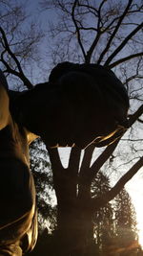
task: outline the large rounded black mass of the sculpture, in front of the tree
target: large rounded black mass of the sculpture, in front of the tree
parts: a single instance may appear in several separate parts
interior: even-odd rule
[[[111,70],[63,62],[19,97],[20,122],[49,147],[106,146],[127,125],[129,99]],[[26,107],[27,105],[27,107]],[[32,117],[32,118],[31,118]]]

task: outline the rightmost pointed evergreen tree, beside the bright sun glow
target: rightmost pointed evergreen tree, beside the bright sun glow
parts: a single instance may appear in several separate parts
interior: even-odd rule
[[[131,255],[130,253],[138,250],[139,244],[135,210],[132,199],[125,189],[115,198],[114,213],[115,236],[121,251],[119,255]]]

